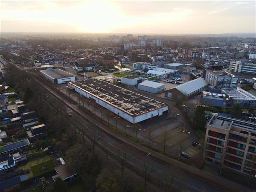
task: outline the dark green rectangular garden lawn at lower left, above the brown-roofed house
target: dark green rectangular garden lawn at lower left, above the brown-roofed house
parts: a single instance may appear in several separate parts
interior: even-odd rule
[[[31,170],[32,170],[33,176],[37,177],[38,175],[51,171],[55,167],[56,167],[55,163],[52,160],[48,160],[43,163],[32,166]]]

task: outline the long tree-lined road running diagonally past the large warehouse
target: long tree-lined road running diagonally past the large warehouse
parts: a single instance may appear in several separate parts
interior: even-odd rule
[[[0,61],[3,61],[3,59],[0,58]],[[4,64],[7,64],[7,63],[4,62]],[[170,168],[171,172],[174,173],[175,175],[174,185],[179,186],[182,189],[188,190],[191,192],[222,191],[221,189],[218,189],[218,187],[216,187],[215,185],[228,186],[230,188],[230,191],[249,191],[245,186],[241,186],[238,183],[234,183],[230,180],[225,179],[224,177],[216,177],[216,176],[209,175],[208,173],[203,172],[202,170],[187,166],[184,163],[175,161],[172,158],[164,156],[163,154],[157,153],[142,145],[131,142],[127,138],[122,137],[121,135],[118,135],[113,131],[109,130],[101,123],[99,122],[96,123],[95,119],[93,119],[91,116],[88,116],[86,113],[81,111],[75,105],[71,104],[70,102],[68,102],[61,96],[59,96],[49,87],[45,86],[41,82],[38,82],[38,83],[41,84],[46,90],[48,90],[53,96],[55,96],[56,98],[64,102],[64,104],[67,105],[67,107],[70,108],[70,110],[72,110],[73,113],[76,113],[82,119],[87,119],[87,121],[92,122],[93,125],[95,125],[95,128],[97,128],[102,138],[102,140],[100,140],[100,145],[105,146],[106,142],[108,142],[108,145],[111,146],[111,148],[114,148],[120,145],[120,143],[126,143],[127,145],[129,145],[131,147],[131,150],[129,151],[129,153],[133,157],[133,160],[131,163],[137,169],[140,169],[140,170],[143,169],[144,162],[146,159],[147,164],[150,167],[152,167],[151,175],[157,178],[163,178],[166,170]],[[149,156],[147,156],[148,153],[150,153]],[[204,178],[202,179],[203,181],[200,178]],[[209,182],[205,182],[206,180],[208,180]]]

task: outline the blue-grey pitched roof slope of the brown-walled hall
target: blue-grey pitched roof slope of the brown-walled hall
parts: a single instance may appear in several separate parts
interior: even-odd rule
[[[207,86],[209,83],[205,81],[203,78],[194,79],[192,81],[188,81],[184,84],[178,85],[177,87],[173,89],[179,90],[183,95],[189,95],[190,93],[193,93],[202,87]]]

